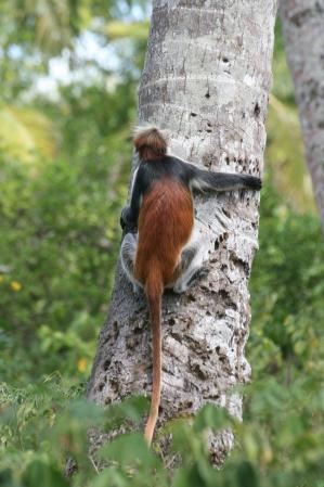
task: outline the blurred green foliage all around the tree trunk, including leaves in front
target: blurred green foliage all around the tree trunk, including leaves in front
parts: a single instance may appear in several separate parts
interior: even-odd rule
[[[207,408],[170,426],[173,474],[137,434],[102,453],[102,473],[87,454],[89,426],[147,406],[103,413],[80,398],[114,280],[148,15],[144,0],[0,3],[0,485],[323,487],[324,251],[280,25],[236,447],[211,467],[206,427],[231,420]]]

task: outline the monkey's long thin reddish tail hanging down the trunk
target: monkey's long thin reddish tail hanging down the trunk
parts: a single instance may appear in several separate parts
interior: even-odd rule
[[[144,436],[148,446],[152,443],[154,428],[158,416],[161,389],[161,295],[163,283],[159,273],[152,272],[146,281],[146,296],[150,307],[152,324],[152,358],[153,380],[150,416],[146,422]]]

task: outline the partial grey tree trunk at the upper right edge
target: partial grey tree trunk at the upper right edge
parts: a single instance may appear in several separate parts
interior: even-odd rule
[[[282,0],[281,18],[324,232],[324,0]]]

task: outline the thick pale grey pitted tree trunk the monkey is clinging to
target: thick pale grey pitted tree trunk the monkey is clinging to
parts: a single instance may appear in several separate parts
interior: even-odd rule
[[[262,172],[275,0],[157,0],[139,93],[139,119],[166,128],[172,152],[213,170]],[[165,295],[159,424],[206,402],[237,418],[233,385],[249,377],[248,277],[258,246],[259,194],[196,198],[210,272],[185,295]],[[151,331],[143,296],[118,264],[89,397],[102,405],[151,393]],[[219,463],[233,438],[210,438]]]

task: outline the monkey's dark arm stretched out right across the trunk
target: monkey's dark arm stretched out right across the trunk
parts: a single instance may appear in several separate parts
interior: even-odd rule
[[[250,175],[213,172],[190,165],[190,185],[198,191],[260,190],[260,178]]]

